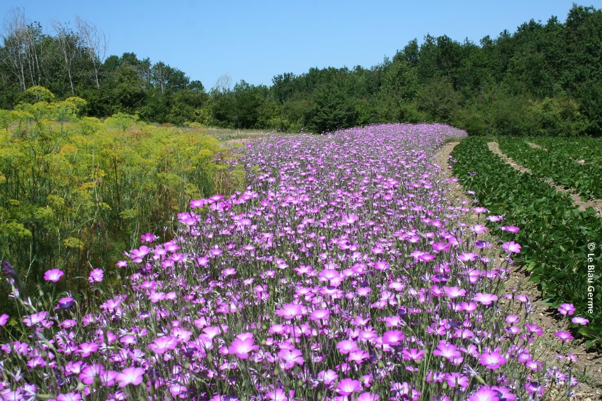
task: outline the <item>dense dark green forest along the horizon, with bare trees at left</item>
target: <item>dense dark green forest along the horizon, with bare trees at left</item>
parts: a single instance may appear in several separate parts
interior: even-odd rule
[[[565,22],[530,20],[479,44],[447,35],[409,41],[361,66],[282,73],[272,85],[227,76],[206,90],[134,52],[106,57],[101,29],[77,19],[54,35],[19,9],[5,19],[0,108],[31,103],[30,87],[86,100],[82,113],[173,123],[323,132],[380,122],[439,121],[472,135],[602,135],[602,10],[573,5]]]

